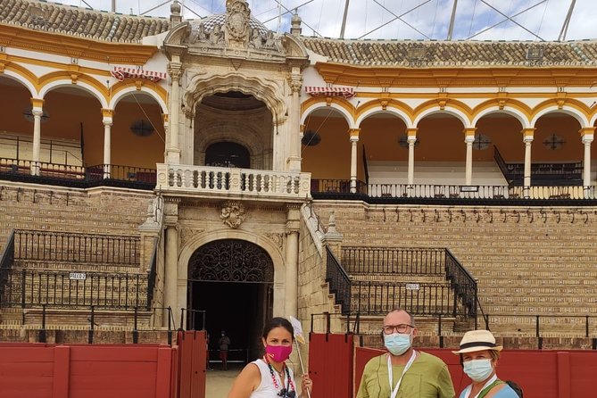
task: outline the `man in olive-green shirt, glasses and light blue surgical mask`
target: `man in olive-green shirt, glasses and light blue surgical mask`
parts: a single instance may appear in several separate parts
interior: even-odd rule
[[[416,351],[415,320],[402,309],[384,318],[381,337],[388,352],[367,362],[357,398],[453,398],[452,378],[444,361]]]

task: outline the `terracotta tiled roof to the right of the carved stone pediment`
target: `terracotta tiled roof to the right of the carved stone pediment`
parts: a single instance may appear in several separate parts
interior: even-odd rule
[[[380,66],[594,66],[597,42],[396,41],[301,37],[329,62]],[[529,53],[530,50],[530,53]],[[530,56],[529,56],[530,55]],[[535,59],[534,56],[535,55]],[[539,56],[540,55],[540,56]]]

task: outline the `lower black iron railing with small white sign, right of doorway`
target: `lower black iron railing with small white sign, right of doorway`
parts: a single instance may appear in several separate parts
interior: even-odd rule
[[[413,315],[467,315],[459,309],[456,291],[446,283],[396,283],[352,280],[352,312],[386,315],[402,308]]]

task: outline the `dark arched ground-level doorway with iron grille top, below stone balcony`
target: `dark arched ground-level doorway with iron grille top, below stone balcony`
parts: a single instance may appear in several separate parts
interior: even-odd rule
[[[211,359],[217,358],[220,331],[232,342],[229,361],[253,361],[261,354],[261,330],[272,316],[274,264],[259,245],[221,239],[199,247],[188,261],[188,308],[205,311]],[[194,313],[190,311],[190,313]],[[201,312],[187,317],[203,328]]]

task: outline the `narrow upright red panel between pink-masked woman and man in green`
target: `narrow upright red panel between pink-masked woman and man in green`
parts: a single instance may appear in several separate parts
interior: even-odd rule
[[[352,396],[352,335],[309,335],[311,398]]]

